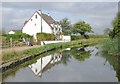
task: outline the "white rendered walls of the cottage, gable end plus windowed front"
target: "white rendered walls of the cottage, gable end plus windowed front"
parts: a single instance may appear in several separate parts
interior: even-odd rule
[[[22,32],[34,36],[34,39],[37,39],[37,33],[41,33],[41,12],[35,12],[31,19],[23,26]],[[36,18],[37,15],[37,18]],[[36,26],[35,26],[36,25]],[[51,28],[51,26],[53,29]],[[48,25],[47,22],[42,19],[42,32],[50,33],[56,35],[57,32],[62,32],[62,28],[60,25],[50,24]]]

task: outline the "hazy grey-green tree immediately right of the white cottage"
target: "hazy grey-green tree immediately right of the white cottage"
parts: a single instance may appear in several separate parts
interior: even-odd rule
[[[64,35],[71,35],[72,25],[68,18],[64,18],[60,21],[62,32]]]

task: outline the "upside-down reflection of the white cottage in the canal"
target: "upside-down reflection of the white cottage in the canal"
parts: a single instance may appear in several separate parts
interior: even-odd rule
[[[36,63],[29,65],[29,68],[34,72],[35,75],[41,77],[42,72],[49,70],[55,64],[61,61],[62,53],[55,53],[54,55],[45,56],[37,60]]]

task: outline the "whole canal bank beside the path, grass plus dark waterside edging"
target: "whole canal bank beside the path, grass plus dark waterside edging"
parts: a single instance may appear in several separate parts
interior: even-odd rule
[[[56,50],[58,48],[66,48],[68,46],[74,46],[79,45],[80,47],[84,47],[85,45],[92,45],[92,44],[98,44],[103,42],[104,39],[85,39],[85,40],[79,40],[79,41],[71,41],[66,43],[57,43],[57,44],[48,44],[45,46],[41,46],[39,48],[32,48],[24,51],[18,51],[18,52],[6,52],[3,53],[3,63],[1,65],[1,69],[3,71],[15,67],[19,64],[22,64],[28,60],[31,60],[37,56],[40,56],[41,54],[44,54],[46,52]]]

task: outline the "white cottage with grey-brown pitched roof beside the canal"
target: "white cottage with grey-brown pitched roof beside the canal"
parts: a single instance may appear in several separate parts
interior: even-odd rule
[[[62,39],[62,28],[58,21],[55,21],[50,14],[43,14],[41,10],[36,11],[31,18],[25,22],[22,32],[34,36],[37,39],[37,33],[50,33]]]

